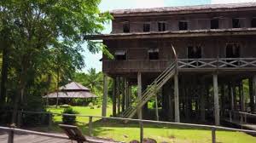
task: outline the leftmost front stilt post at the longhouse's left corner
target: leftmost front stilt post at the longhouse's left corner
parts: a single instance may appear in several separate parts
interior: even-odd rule
[[[102,117],[107,116],[107,104],[108,104],[108,77],[103,75],[103,100],[102,100]]]

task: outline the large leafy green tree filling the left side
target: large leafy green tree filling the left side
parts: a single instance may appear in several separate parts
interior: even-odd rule
[[[9,71],[15,85],[13,122],[18,106],[25,105],[25,94],[37,92],[35,85],[60,69],[61,77],[72,77],[84,66],[80,52],[84,37],[103,30],[102,24],[111,19],[100,14],[100,0],[3,0],[0,2],[1,35],[8,33],[11,51]],[[104,49],[105,47],[103,47]],[[11,49],[11,50],[10,50]],[[91,52],[101,47],[89,44]],[[3,59],[3,63],[5,60]],[[3,75],[3,74],[2,74]],[[2,82],[8,75],[3,75]]]

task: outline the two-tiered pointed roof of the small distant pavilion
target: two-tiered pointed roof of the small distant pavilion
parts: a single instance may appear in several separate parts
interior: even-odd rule
[[[90,89],[80,83],[72,82],[59,88],[58,91],[45,95],[43,98],[95,98]]]

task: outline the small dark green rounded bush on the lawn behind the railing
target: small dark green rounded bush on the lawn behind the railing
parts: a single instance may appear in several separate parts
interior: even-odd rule
[[[63,114],[78,114],[78,113],[79,112],[74,111],[72,107],[67,107],[63,111]],[[64,123],[64,124],[75,124],[76,123],[76,117],[75,116],[62,115],[62,123]]]

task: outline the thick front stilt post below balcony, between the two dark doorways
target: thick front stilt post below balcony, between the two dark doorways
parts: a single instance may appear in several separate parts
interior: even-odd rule
[[[218,104],[218,75],[213,75],[213,94],[214,94],[214,117],[215,125],[219,125],[219,104]]]

